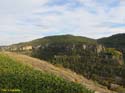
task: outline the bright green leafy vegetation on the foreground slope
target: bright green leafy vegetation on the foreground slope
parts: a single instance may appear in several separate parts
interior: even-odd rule
[[[20,90],[17,93],[92,93],[80,84],[35,70],[7,54],[0,53],[0,93],[2,89]]]

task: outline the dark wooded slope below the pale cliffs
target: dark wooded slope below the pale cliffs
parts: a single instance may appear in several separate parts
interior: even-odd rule
[[[33,51],[33,56],[47,60],[55,65],[61,65],[66,68],[82,74],[88,79],[93,79],[99,83],[111,87],[111,84],[125,86],[124,65],[122,53],[115,49],[104,49],[97,52],[98,45],[86,45],[83,48],[81,44],[50,44],[47,47],[40,47]],[[116,78],[120,80],[116,80]]]

